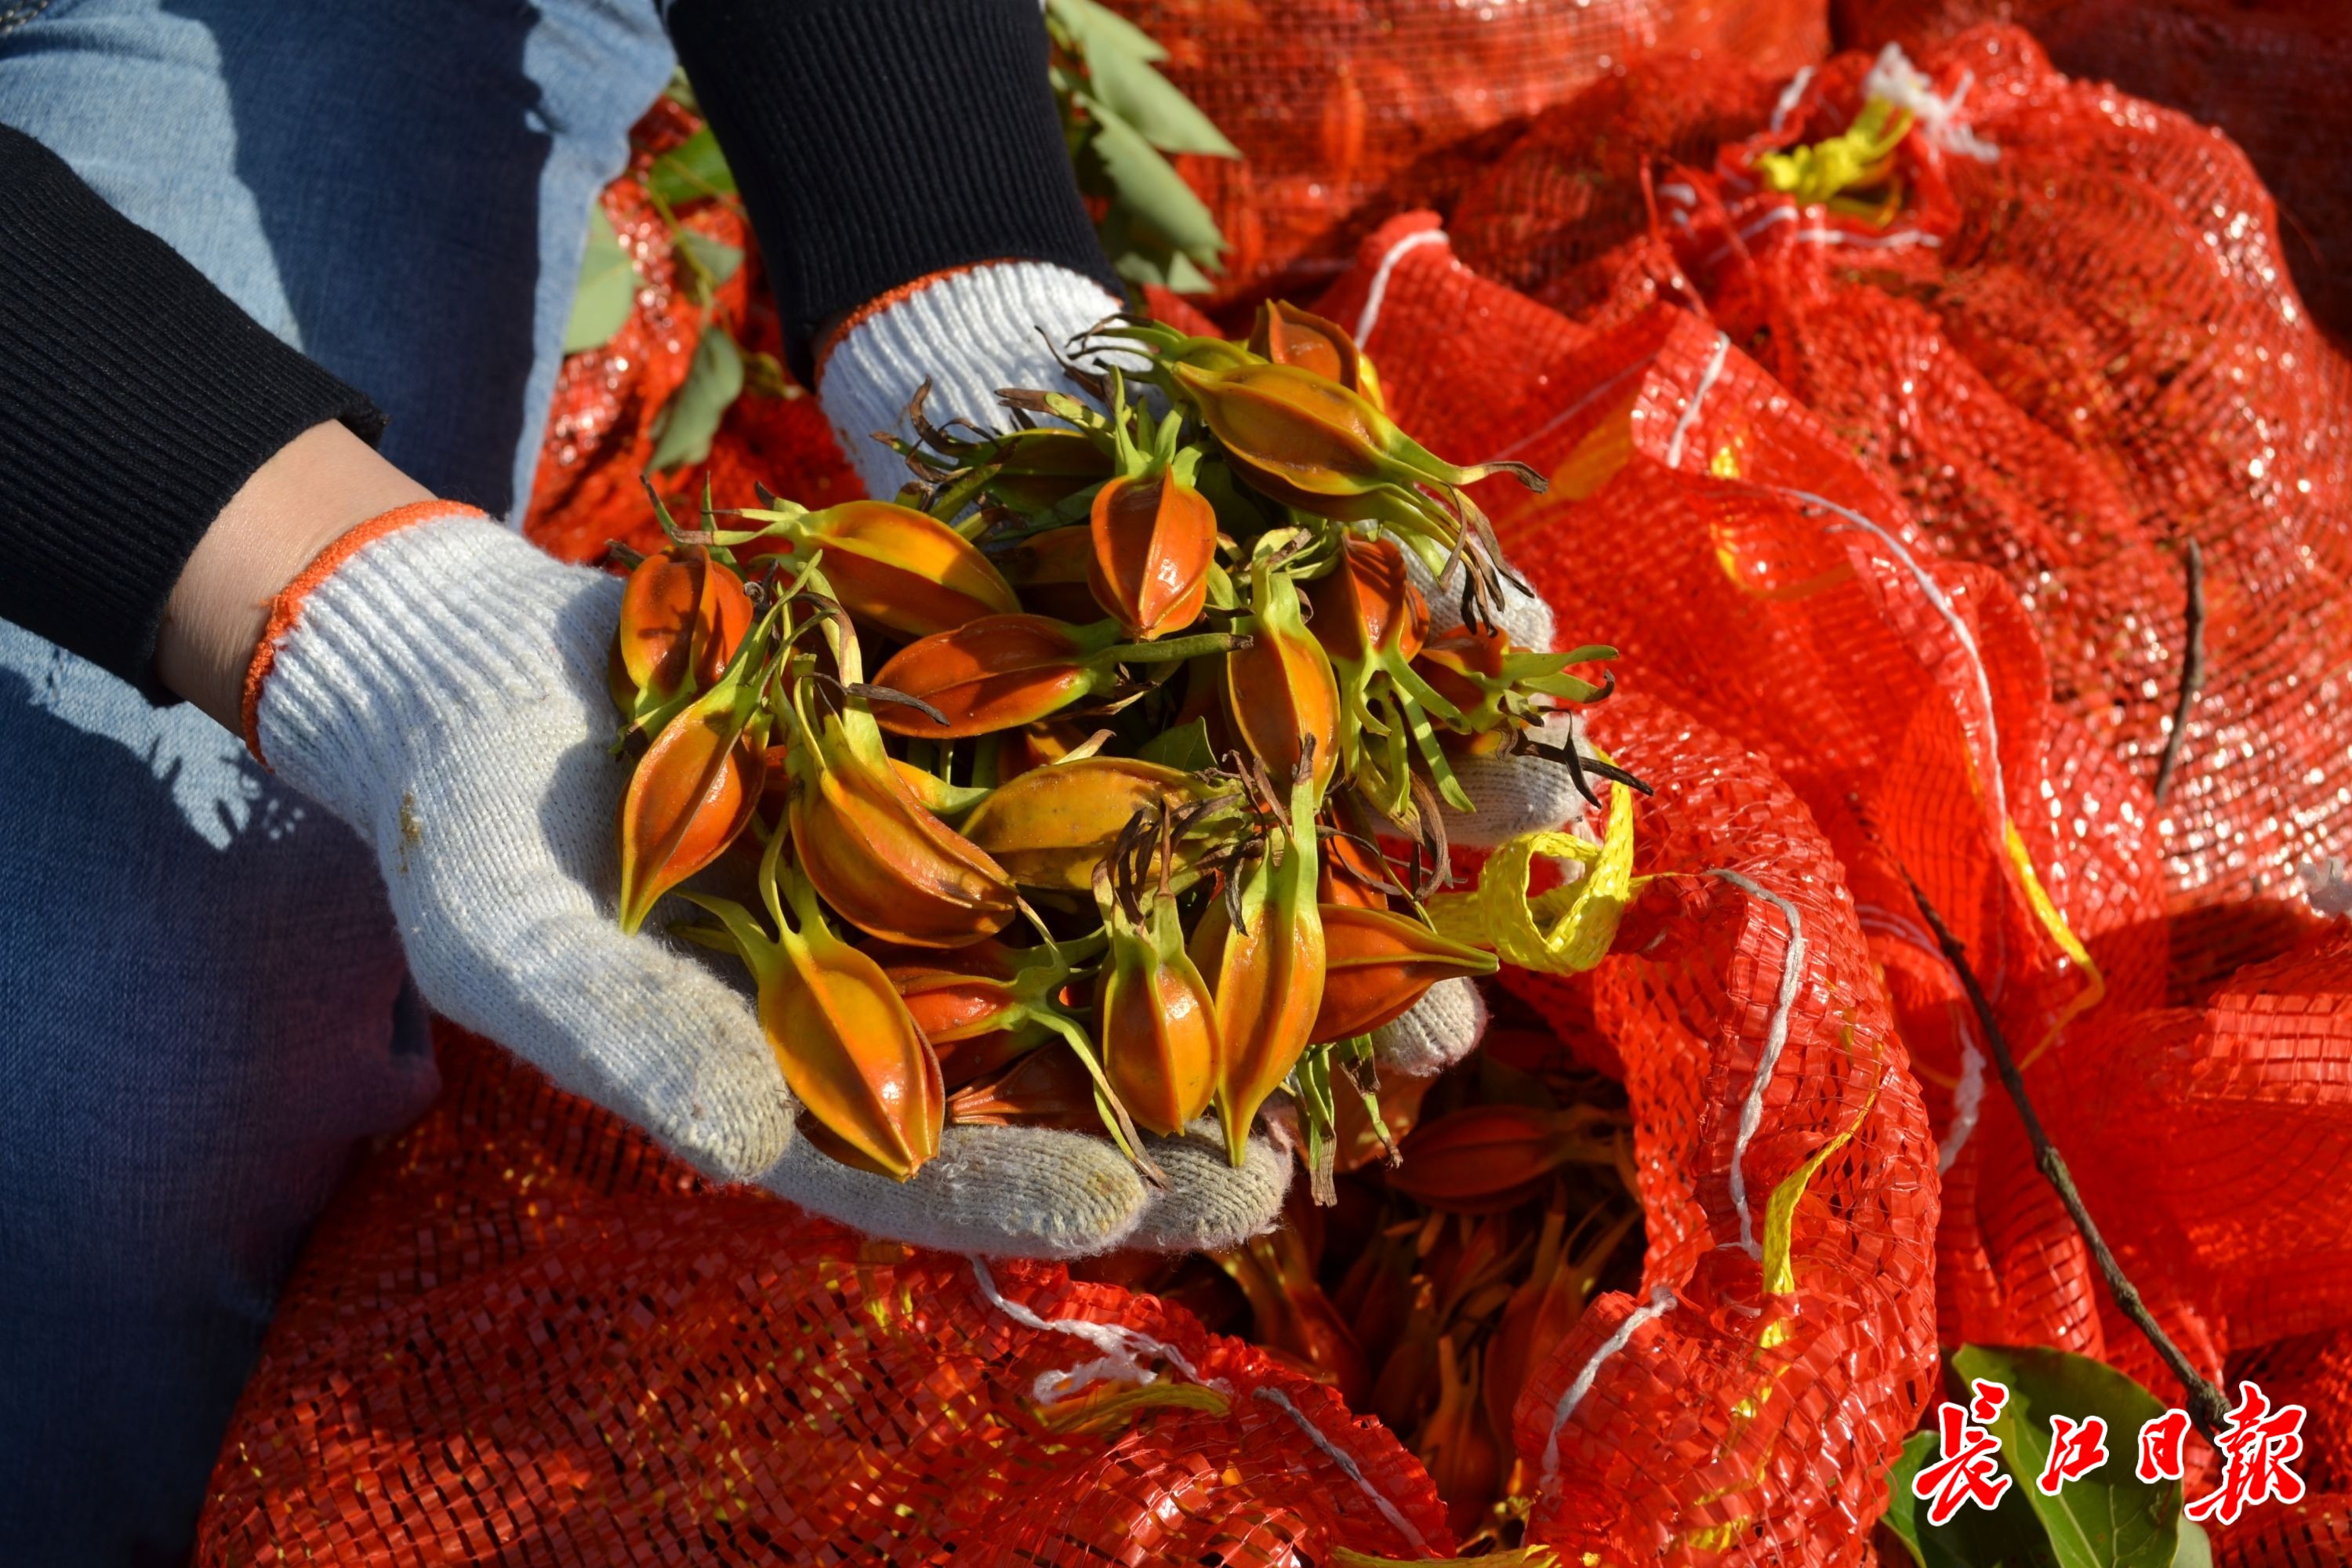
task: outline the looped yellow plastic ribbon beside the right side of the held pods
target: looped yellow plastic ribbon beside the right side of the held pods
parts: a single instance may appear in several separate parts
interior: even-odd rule
[[[1526,896],[1536,860],[1576,860],[1581,882]],[[1437,893],[1428,903],[1439,936],[1489,947],[1505,964],[1566,976],[1609,954],[1618,919],[1649,877],[1632,875],[1632,790],[1609,785],[1609,830],[1599,844],[1573,832],[1522,832],[1501,844],[1468,893]]]

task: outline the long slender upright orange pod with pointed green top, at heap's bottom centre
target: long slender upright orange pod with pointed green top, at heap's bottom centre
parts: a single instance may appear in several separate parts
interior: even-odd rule
[[[1216,1114],[1235,1166],[1249,1119],[1308,1048],[1322,1006],[1324,936],[1305,783],[1291,790],[1291,820],[1303,830],[1270,830],[1265,856],[1242,872],[1242,919],[1228,914],[1225,898],[1211,898],[1190,943],[1192,964],[1216,994]]]

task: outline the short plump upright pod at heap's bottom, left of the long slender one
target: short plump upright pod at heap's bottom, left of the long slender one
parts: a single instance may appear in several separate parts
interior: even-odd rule
[[[1216,999],[1183,950],[1176,903],[1145,924],[1110,910],[1110,959],[1096,985],[1103,1072],[1136,1124],[1183,1131],[1216,1095]]]

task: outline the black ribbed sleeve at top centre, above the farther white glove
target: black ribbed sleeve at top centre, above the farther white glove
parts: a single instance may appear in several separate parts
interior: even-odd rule
[[[675,0],[670,38],[797,376],[826,320],[943,268],[1056,261],[1117,292],[1070,179],[1037,0]]]

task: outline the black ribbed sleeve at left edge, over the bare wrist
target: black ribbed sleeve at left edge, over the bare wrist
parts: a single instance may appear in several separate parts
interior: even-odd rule
[[[153,689],[181,567],[247,477],[383,416],[0,125],[0,618]]]

